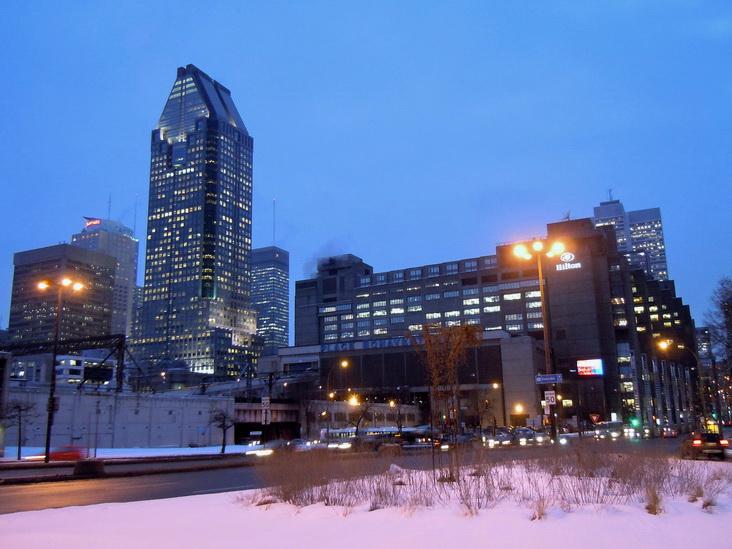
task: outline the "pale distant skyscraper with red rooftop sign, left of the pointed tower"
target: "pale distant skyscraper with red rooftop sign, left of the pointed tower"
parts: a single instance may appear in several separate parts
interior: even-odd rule
[[[130,336],[139,249],[132,229],[111,219],[87,217],[84,228],[71,237],[71,243],[111,255],[117,260],[112,296],[112,333]]]

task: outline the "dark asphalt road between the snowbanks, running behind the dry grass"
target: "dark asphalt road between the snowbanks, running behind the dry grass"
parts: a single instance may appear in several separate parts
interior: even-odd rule
[[[652,452],[672,455],[678,451],[679,440],[618,441],[603,448],[617,452]],[[598,446],[598,449],[601,447]],[[570,448],[566,448],[570,450]],[[511,448],[491,451],[495,459],[521,459],[539,455],[541,448]],[[604,450],[603,450],[604,451]],[[52,507],[118,503],[150,499],[212,494],[261,488],[267,485],[267,465],[168,473],[127,478],[72,480],[38,484],[0,486],[0,514],[33,511]],[[405,455],[390,460],[406,468],[429,468],[429,453]],[[388,462],[362,458],[353,460],[365,471],[383,469]]]

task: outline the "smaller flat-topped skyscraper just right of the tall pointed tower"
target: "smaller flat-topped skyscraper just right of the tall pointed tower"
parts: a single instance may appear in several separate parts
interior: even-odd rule
[[[269,246],[252,250],[252,306],[263,355],[277,354],[289,343],[290,254]]]

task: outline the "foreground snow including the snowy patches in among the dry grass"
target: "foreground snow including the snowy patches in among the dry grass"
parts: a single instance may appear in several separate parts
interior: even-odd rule
[[[622,464],[623,459],[618,458],[615,463]],[[307,461],[302,464],[307,467]],[[462,483],[480,488],[483,494],[492,494],[470,512],[461,503],[458,483],[434,482],[429,471],[408,471],[392,465],[381,475],[330,483],[328,486],[334,489],[326,497],[345,497],[356,502],[349,506],[295,506],[275,502],[276,491],[249,490],[68,507],[2,515],[0,540],[3,549],[547,545],[562,549],[687,549],[697,546],[700,536],[714,546],[730,544],[727,530],[732,521],[732,467],[728,464],[671,460],[671,468],[662,475],[661,484],[666,488],[659,514],[647,511],[647,492],[643,488],[632,493],[625,490],[624,486],[634,486],[639,478],[633,471],[616,467],[614,475],[598,476],[602,468],[587,475],[587,470],[568,474],[567,470],[552,472],[542,467],[488,465],[480,473],[472,467],[464,468]],[[661,470],[653,464],[645,467],[644,477]],[[307,474],[303,473],[305,470],[301,467],[294,474],[290,471],[293,486]],[[622,475],[629,476],[623,480]],[[642,480],[644,486],[653,482]],[[578,483],[586,489],[578,490]],[[713,490],[714,486],[718,489]],[[432,495],[424,497],[422,492]],[[314,493],[321,492],[316,489]],[[390,500],[394,493],[400,497]],[[675,495],[669,495],[672,493]],[[696,497],[692,497],[695,493]],[[468,490],[466,494],[467,499],[478,501],[475,492]],[[538,520],[537,497],[547,502]],[[577,498],[586,502],[577,503]],[[374,505],[376,500],[384,505]],[[425,503],[415,503],[420,501]]]

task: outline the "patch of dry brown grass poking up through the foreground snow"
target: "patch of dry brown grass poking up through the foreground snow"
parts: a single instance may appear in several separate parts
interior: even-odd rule
[[[571,451],[547,448],[536,458],[501,460],[495,452],[460,456],[460,466],[445,460],[431,471],[401,469],[393,457],[353,458],[328,452],[273,455],[258,468],[270,487],[248,503],[297,506],[323,503],[350,510],[365,506],[413,510],[457,502],[467,515],[502,500],[517,501],[532,520],[558,506],[643,504],[650,514],[663,512],[665,497],[702,501],[711,511],[732,485],[732,475],[698,462],[661,455],[618,454],[612,446],[577,444]],[[350,511],[348,511],[350,512]]]

